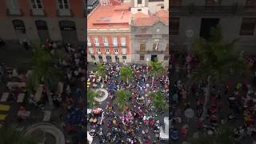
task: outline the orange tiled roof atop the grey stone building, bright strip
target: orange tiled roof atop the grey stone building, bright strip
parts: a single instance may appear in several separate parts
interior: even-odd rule
[[[156,22],[162,22],[169,26],[169,13],[166,10],[160,10],[154,15],[142,13],[134,14],[134,26],[153,26]]]

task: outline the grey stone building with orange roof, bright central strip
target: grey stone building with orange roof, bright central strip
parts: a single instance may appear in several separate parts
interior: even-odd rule
[[[134,14],[131,22],[131,54],[133,63],[146,64],[157,58],[169,64],[169,13],[160,10],[155,16]]]

